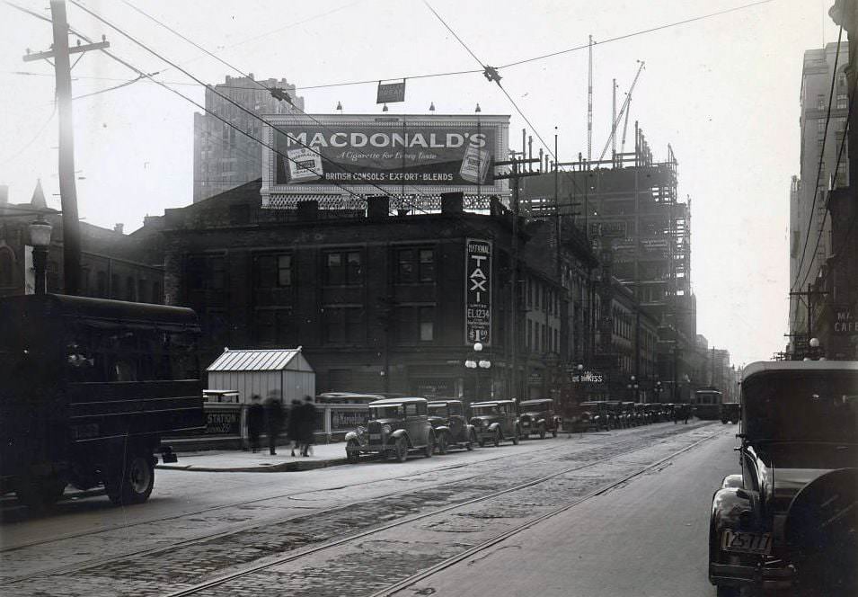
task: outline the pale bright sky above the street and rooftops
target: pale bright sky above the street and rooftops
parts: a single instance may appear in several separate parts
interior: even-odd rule
[[[692,201],[692,287],[698,333],[742,364],[783,350],[789,290],[790,179],[799,174],[802,55],[836,41],[831,0],[771,0],[730,13],[625,37],[753,0],[430,0],[480,63],[505,65],[502,84],[561,161],[587,148],[588,35],[594,48],[593,151],[611,129],[612,79],[622,102],[646,63],[631,102],[656,160],[668,143],[679,163],[679,193]],[[49,15],[47,0],[17,0]],[[377,113],[376,83],[408,78],[392,113],[509,114],[510,138],[527,128],[497,85],[481,74],[410,78],[479,68],[421,0],[85,0],[85,6],[148,48],[217,84],[238,76],[223,63],[137,13],[168,24],[243,73],[285,77],[308,113]],[[203,88],[74,4],[68,21],[172,89],[202,102]],[[48,49],[49,22],[0,4],[0,184],[13,203],[41,180],[59,208],[57,114],[52,67],[22,62]],[[845,39],[845,33],[844,33]],[[71,38],[75,43],[75,38]],[[27,73],[27,74],[22,74]],[[73,70],[73,94],[137,77],[101,52]],[[102,227],[141,227],[146,215],[191,201],[193,112],[199,108],[149,81],[76,99],[75,169],[79,212]],[[555,129],[556,128],[556,129]],[[536,137],[536,135],[534,135]],[[553,148],[553,147],[552,147]]]

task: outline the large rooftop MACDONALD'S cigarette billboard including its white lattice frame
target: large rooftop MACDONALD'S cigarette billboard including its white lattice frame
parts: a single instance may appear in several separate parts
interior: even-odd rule
[[[268,117],[263,194],[506,194],[508,116],[279,114]]]

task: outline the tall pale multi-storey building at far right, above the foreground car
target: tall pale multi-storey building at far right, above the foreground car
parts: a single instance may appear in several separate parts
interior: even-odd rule
[[[832,192],[849,185],[849,151],[846,118],[849,85],[846,67],[848,43],[836,43],[804,53],[801,71],[801,174],[790,187],[790,291],[807,292],[836,254],[833,224],[829,213]],[[834,87],[832,89],[832,80]],[[830,97],[830,105],[829,105]],[[808,303],[821,296],[793,295],[790,300],[790,352],[802,353],[808,333],[816,335],[808,321]],[[825,302],[825,300],[821,300]]]

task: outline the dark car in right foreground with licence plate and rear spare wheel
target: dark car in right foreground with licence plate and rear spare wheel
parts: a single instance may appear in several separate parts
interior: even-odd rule
[[[858,361],[751,363],[741,394],[741,474],[712,498],[709,580],[721,597],[858,594]]]

